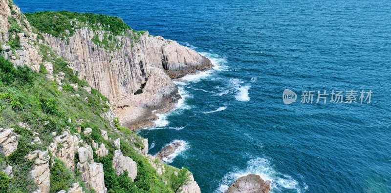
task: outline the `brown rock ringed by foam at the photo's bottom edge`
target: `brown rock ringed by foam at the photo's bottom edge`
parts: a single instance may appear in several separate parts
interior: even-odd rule
[[[261,176],[248,174],[239,177],[226,193],[269,193],[270,181],[263,181]]]

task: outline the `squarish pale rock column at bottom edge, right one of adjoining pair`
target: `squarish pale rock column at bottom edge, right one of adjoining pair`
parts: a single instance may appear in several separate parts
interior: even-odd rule
[[[105,176],[103,174],[103,165],[101,163],[88,164],[89,187],[95,190],[95,193],[107,193],[105,187]]]

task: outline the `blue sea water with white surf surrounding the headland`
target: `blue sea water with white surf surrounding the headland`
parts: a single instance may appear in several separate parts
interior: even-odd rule
[[[177,108],[139,132],[151,154],[182,140],[166,161],[202,192],[250,173],[273,193],[391,192],[391,1],[14,1],[119,16],[211,58],[213,70],[177,82]],[[370,104],[302,104],[304,90],[373,93]]]

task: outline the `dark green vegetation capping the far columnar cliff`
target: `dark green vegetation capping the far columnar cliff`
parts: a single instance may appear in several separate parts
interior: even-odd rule
[[[121,18],[102,14],[43,11],[26,13],[25,15],[30,24],[37,29],[37,33],[47,33],[61,39],[73,36],[77,29],[88,27],[94,32],[92,41],[97,46],[109,51],[123,46],[124,42],[120,42],[116,38],[117,36],[130,36],[137,42],[141,35],[146,33],[146,31],[137,32],[131,29]],[[97,31],[100,30],[103,30],[102,40],[98,37]],[[129,33],[127,33],[128,30]]]

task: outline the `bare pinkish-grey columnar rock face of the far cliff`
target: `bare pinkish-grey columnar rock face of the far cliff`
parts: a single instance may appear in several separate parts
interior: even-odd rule
[[[126,126],[149,117],[154,109],[171,108],[177,87],[170,77],[212,67],[209,59],[194,50],[148,32],[137,39],[131,30],[124,36],[114,36],[118,48],[110,52],[92,41],[94,36],[105,34],[110,32],[84,27],[67,40],[48,34],[44,39],[93,88],[110,99],[114,113]]]

